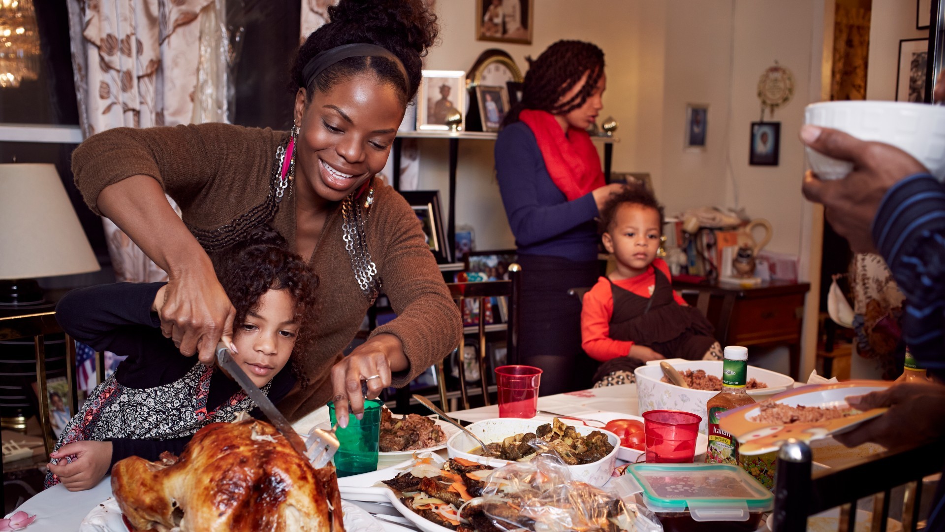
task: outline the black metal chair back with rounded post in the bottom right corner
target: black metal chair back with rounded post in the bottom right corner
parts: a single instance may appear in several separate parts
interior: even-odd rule
[[[811,448],[788,440],[778,452],[774,532],[804,532],[808,516],[836,506],[840,506],[840,530],[854,530],[856,502],[870,495],[876,495],[870,530],[885,532],[892,489],[902,485],[906,485],[902,529],[916,530],[922,477],[941,470],[942,449],[945,442],[937,441],[906,451],[874,454],[842,470],[812,474]]]

